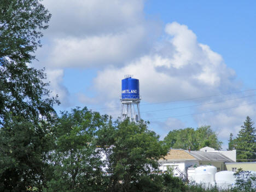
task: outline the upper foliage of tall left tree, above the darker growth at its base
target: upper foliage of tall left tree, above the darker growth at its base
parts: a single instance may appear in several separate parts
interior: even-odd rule
[[[11,112],[31,121],[55,113],[43,70],[28,67],[50,19],[40,0],[0,3],[0,126]]]

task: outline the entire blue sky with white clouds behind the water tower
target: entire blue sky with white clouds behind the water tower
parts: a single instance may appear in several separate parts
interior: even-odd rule
[[[227,148],[256,121],[256,2],[44,0],[52,14],[32,65],[69,110],[120,116],[121,79],[139,79],[141,117],[163,139],[210,125]]]

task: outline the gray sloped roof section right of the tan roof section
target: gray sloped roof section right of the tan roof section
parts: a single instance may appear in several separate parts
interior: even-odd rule
[[[199,161],[219,161],[219,162],[234,162],[222,153],[215,153],[215,152],[200,152],[200,151],[188,151],[185,152],[189,153],[190,155],[194,156]]]

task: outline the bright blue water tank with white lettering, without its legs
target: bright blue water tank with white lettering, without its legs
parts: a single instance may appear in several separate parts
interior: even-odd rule
[[[131,77],[122,79],[122,99],[139,99],[139,80]]]

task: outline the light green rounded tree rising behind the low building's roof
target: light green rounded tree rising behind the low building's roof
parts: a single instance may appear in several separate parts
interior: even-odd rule
[[[196,130],[186,128],[170,131],[164,138],[164,142],[169,148],[175,149],[199,150],[208,146],[219,150],[222,146],[222,142],[218,140],[210,126],[202,126]]]

